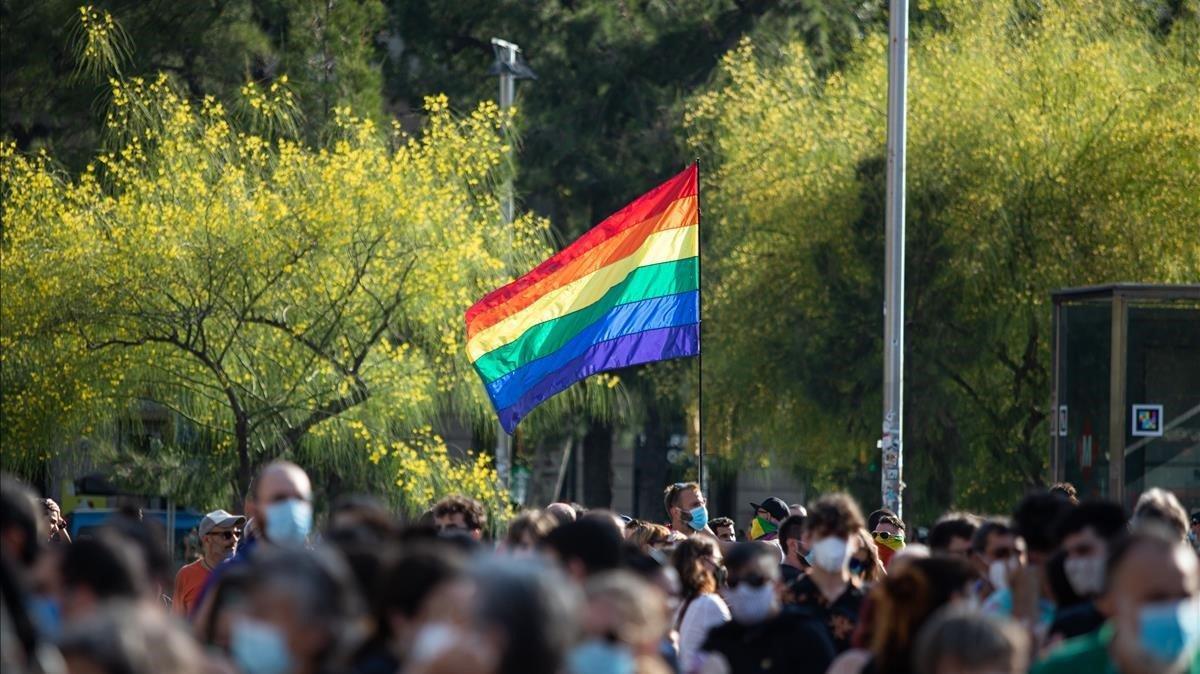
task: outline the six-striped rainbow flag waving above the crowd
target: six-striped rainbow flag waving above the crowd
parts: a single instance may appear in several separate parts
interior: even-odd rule
[[[510,434],[610,369],[700,353],[697,167],[467,309],[467,355]]]

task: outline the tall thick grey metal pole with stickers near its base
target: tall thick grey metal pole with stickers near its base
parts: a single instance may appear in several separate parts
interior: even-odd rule
[[[902,517],[904,489],[904,206],[908,1],[892,0],[888,26],[887,277],[883,306],[883,506]]]

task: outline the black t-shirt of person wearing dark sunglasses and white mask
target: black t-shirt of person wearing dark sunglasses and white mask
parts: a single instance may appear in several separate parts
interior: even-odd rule
[[[823,674],[836,656],[824,625],[794,608],[757,625],[714,627],[701,650],[720,654],[737,674]]]

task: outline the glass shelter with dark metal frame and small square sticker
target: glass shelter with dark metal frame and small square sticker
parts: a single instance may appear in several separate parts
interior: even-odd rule
[[[1055,481],[1127,508],[1151,487],[1200,507],[1200,284],[1051,296]]]

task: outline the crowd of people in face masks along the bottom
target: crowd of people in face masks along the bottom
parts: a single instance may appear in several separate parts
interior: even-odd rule
[[[1010,517],[918,534],[848,495],[662,520],[565,503],[494,537],[456,495],[402,524],[371,498],[314,530],[312,486],[264,467],[178,571],[136,510],[67,535],[2,479],[0,664],[71,674],[1200,673],[1200,511],[1132,513],[1056,485]]]

